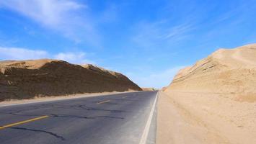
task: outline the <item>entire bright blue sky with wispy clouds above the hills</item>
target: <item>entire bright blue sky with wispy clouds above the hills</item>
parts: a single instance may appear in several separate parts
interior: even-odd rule
[[[256,42],[255,0],[1,0],[0,60],[56,58],[167,86],[218,48]]]

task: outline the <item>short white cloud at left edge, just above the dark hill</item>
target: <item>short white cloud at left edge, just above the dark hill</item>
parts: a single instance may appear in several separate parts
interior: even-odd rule
[[[28,50],[25,48],[1,48],[0,59],[2,60],[24,60],[48,57],[44,50]]]

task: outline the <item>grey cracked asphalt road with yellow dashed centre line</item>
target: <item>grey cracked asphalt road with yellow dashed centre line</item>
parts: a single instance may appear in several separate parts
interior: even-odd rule
[[[155,143],[157,91],[0,107],[0,143]]]

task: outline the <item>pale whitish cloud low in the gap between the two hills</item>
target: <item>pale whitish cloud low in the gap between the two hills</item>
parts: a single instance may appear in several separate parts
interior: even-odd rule
[[[158,71],[155,73],[151,73],[149,76],[138,76],[134,73],[126,73],[129,78],[131,78],[138,86],[141,87],[154,87],[157,89],[161,89],[163,86],[168,86],[173,77],[177,74],[177,72],[185,68],[185,66],[177,66],[174,68],[169,68],[165,71]]]

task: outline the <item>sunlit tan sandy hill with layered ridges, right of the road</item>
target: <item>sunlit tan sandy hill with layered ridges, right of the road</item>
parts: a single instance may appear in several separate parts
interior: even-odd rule
[[[256,96],[256,44],[220,49],[177,73],[168,89]],[[256,99],[256,98],[255,98]]]

